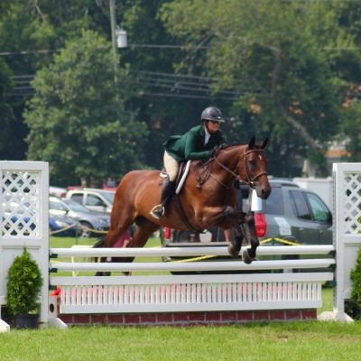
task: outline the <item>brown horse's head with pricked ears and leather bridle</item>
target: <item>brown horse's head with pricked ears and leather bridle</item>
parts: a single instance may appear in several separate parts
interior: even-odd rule
[[[267,199],[271,193],[271,186],[267,177],[267,159],[264,149],[267,146],[268,138],[260,144],[255,143],[255,136],[251,138],[245,148],[244,161],[239,162],[238,174],[245,174],[245,181],[255,189],[257,196]]]

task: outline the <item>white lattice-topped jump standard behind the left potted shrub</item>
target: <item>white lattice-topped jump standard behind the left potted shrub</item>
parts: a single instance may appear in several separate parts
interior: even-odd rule
[[[1,320],[7,271],[24,245],[42,268],[41,321],[48,320],[48,190],[47,162],[0,162],[0,330],[8,329]]]

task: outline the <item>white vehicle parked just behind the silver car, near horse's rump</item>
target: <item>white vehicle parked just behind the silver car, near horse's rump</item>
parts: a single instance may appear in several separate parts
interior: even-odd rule
[[[114,190],[82,188],[80,190],[68,190],[65,198],[73,199],[90,210],[110,213],[115,195]]]

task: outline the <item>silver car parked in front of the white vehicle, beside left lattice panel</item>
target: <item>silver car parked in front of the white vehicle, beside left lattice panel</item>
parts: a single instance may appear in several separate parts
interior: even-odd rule
[[[91,212],[72,199],[49,198],[49,212],[55,216],[67,216],[82,226],[81,236],[101,236],[109,229],[109,214]],[[94,230],[94,231],[91,231]]]

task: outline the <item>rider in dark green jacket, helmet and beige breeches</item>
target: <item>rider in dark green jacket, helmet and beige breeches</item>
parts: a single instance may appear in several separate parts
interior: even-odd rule
[[[189,160],[207,160],[216,147],[226,143],[226,138],[219,129],[225,119],[217,107],[208,106],[204,109],[200,120],[201,125],[194,126],[186,134],[173,135],[163,143],[165,150],[163,162],[169,179],[163,182],[161,203],[151,210],[153,218],[161,219],[164,215],[167,201],[175,189],[179,163]]]

